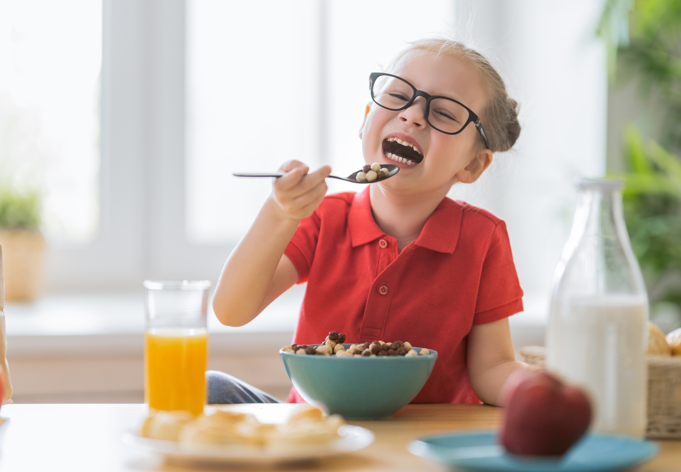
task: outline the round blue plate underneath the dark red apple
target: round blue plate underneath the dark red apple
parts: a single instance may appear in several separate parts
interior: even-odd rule
[[[659,446],[625,436],[588,434],[565,456],[514,456],[498,442],[496,431],[469,431],[424,437],[409,452],[466,471],[605,472],[618,471],[656,456]]]

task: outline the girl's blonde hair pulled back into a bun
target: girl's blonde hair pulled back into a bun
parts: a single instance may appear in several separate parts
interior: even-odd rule
[[[490,150],[497,152],[511,149],[520,135],[518,102],[508,96],[501,75],[492,67],[490,61],[476,50],[454,39],[428,37],[409,43],[409,47],[394,58],[390,67],[394,67],[407,53],[419,50],[436,56],[448,54],[464,58],[473,65],[483,78],[489,94],[487,103],[479,116],[487,139],[490,141]]]

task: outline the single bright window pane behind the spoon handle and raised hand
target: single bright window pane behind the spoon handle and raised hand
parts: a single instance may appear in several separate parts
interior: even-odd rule
[[[187,235],[238,240],[270,188],[235,171],[317,161],[319,2],[187,2]]]

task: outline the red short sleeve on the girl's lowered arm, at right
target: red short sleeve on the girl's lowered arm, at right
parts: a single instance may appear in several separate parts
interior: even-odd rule
[[[482,265],[473,324],[485,324],[522,311],[522,289],[513,264],[506,224],[499,222]]]

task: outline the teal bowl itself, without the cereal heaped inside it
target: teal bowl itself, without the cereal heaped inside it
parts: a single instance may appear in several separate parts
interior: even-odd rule
[[[433,350],[412,357],[299,356],[281,350],[279,355],[305,401],[356,419],[390,418],[421,391],[437,360]]]

